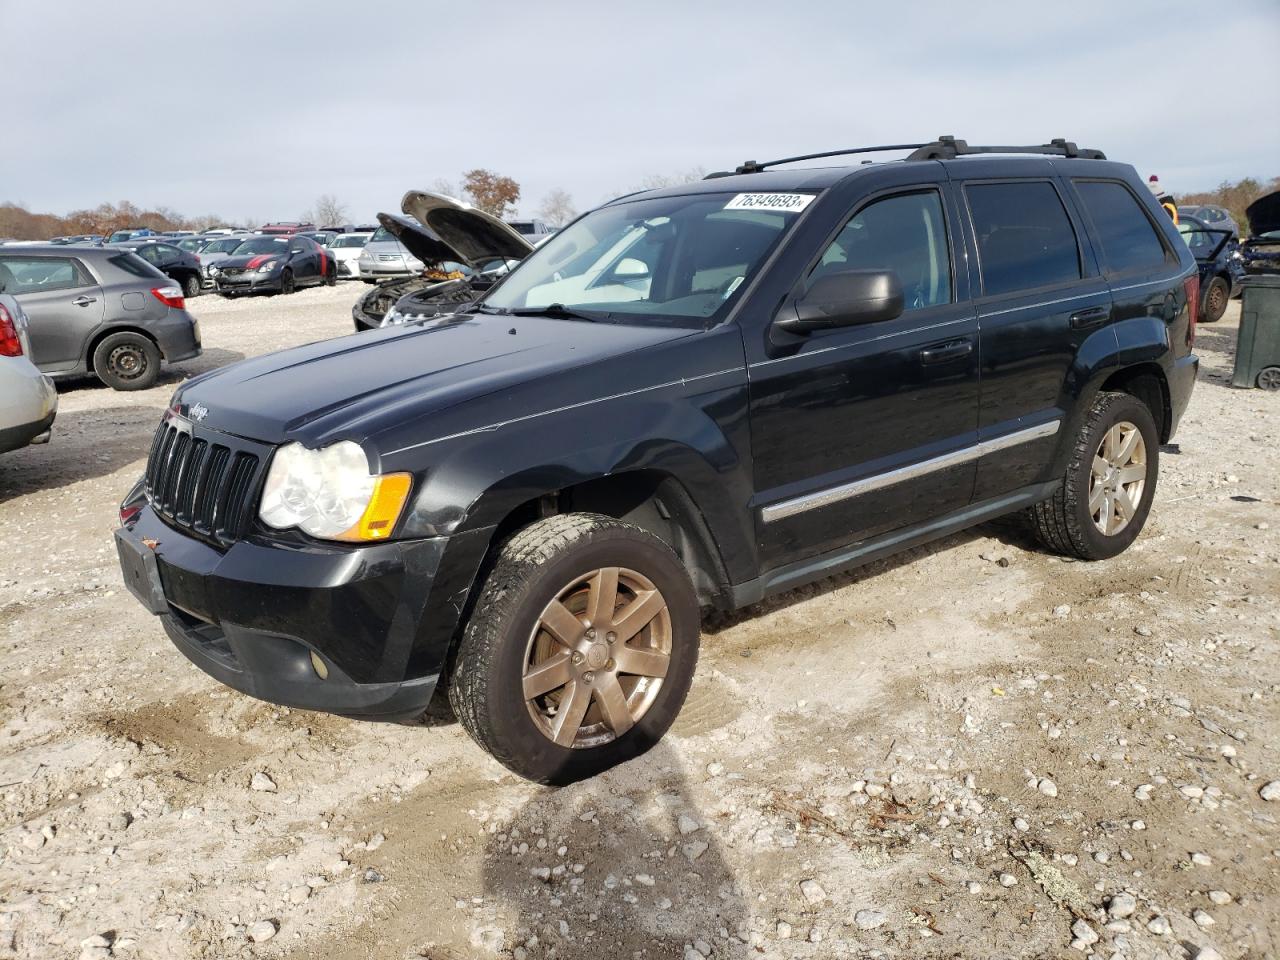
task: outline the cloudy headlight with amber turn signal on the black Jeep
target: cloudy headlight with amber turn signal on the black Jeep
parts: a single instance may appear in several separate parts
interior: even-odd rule
[[[276,530],[296,526],[325,540],[385,540],[411,485],[408,474],[370,475],[358,443],[319,451],[287,443],[271,458],[259,516]]]

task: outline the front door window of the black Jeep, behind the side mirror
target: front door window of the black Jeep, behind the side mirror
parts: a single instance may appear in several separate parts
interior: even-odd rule
[[[950,303],[951,253],[937,191],[884,197],[859,210],[823,252],[809,280],[852,269],[893,270],[902,282],[906,310]]]

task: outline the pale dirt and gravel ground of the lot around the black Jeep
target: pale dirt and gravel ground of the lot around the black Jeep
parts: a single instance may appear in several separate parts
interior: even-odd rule
[[[201,360],[64,384],[0,458],[0,956],[1280,955],[1280,394],[1226,387],[1236,306],[1126,554],[989,525],[708,623],[664,744],[552,791],[228,691],[122,586],[174,385],[357,292],[200,298]]]

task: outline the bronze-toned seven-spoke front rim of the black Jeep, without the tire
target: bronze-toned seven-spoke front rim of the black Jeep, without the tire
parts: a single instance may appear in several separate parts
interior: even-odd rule
[[[547,604],[525,650],[524,695],[539,731],[600,746],[640,722],[671,663],[667,600],[626,567],[575,579]]]

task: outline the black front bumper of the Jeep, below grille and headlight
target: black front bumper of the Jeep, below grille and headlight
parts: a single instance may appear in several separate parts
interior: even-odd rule
[[[241,540],[221,552],[145,506],[115,531],[115,544],[129,590],[183,655],[227,686],[370,719],[426,709],[447,649],[428,616],[447,540],[360,548]]]

